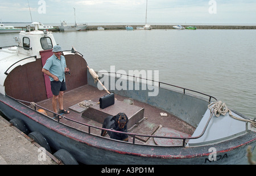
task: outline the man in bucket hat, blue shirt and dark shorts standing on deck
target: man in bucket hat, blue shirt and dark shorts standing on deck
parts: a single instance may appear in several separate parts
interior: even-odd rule
[[[62,49],[59,45],[53,46],[53,55],[49,57],[44,65],[42,72],[49,76],[51,81],[52,106],[55,113],[69,114],[69,110],[63,107],[63,95],[67,90],[65,83],[65,74],[69,72],[69,68],[66,65],[65,57],[61,55]],[[59,102],[59,111],[57,111],[57,101]],[[60,118],[58,114],[54,117]]]

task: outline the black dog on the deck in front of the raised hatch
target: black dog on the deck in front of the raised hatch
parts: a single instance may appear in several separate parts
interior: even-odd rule
[[[127,132],[127,123],[128,117],[125,113],[118,113],[115,116],[109,116],[104,119],[104,123],[102,128],[112,129],[115,131]],[[127,134],[120,134],[117,132],[101,130],[101,136],[105,136],[106,132],[108,132],[110,138],[128,141]]]

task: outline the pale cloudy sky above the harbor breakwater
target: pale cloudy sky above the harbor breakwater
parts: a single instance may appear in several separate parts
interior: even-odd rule
[[[0,0],[0,19],[143,24],[146,2],[148,24],[256,24],[256,0]]]

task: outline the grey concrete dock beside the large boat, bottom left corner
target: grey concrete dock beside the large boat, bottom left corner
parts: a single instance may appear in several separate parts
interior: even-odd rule
[[[0,165],[57,165],[51,153],[39,148],[39,144],[0,116]]]

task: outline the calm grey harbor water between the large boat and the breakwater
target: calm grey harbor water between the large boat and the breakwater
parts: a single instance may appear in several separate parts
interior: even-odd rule
[[[64,50],[74,46],[94,70],[158,70],[159,81],[211,95],[229,109],[256,118],[256,30],[53,33],[57,44]],[[14,37],[18,33],[0,34],[0,46],[16,45]]]

